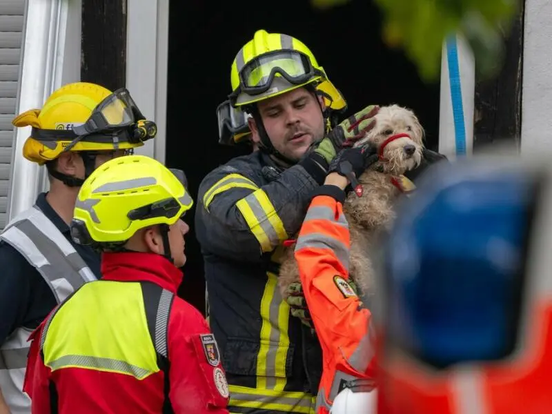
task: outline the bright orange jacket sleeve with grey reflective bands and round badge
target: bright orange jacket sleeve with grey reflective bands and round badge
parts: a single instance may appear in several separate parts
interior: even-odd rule
[[[317,412],[327,413],[344,382],[373,378],[375,340],[371,313],[347,282],[350,237],[342,210],[344,193],[335,186],[322,186],[317,193],[299,233],[295,258],[324,357]]]

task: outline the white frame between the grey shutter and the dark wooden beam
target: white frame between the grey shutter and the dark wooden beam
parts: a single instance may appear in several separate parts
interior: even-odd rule
[[[18,113],[41,108],[63,83],[81,77],[81,0],[27,0],[25,19]],[[8,220],[32,206],[48,181],[45,168],[23,158],[30,130],[15,132]]]

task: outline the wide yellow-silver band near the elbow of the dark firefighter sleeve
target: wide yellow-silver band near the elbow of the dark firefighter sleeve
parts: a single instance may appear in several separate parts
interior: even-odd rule
[[[273,250],[287,239],[284,224],[262,189],[259,188],[239,200],[236,206],[246,219],[251,233],[257,238],[263,253]]]

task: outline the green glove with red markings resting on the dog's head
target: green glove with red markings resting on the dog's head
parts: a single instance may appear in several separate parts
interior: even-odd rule
[[[333,146],[339,150],[344,145],[352,146],[368,131],[375,126],[374,116],[380,111],[377,105],[366,106],[363,110],[348,117],[341,124],[328,132],[328,138],[331,139]]]

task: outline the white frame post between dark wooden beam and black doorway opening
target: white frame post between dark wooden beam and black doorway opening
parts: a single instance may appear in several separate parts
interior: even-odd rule
[[[136,153],[165,162],[169,0],[128,0],[126,88],[157,137]]]

